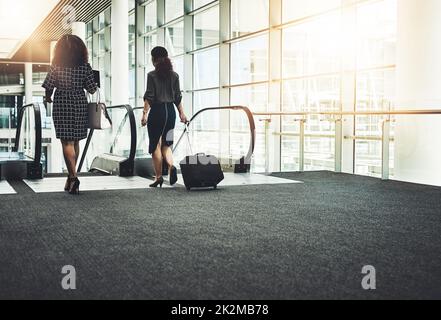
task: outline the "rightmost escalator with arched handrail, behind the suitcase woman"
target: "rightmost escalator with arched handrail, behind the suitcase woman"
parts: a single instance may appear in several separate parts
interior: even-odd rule
[[[152,177],[155,175],[153,170],[153,161],[151,156],[148,154],[148,135],[147,135],[147,129],[141,128],[141,115],[142,115],[142,107],[135,108],[134,113],[135,116],[137,116],[136,124],[137,124],[137,133],[138,133],[138,145],[136,148],[136,158],[135,158],[135,174],[143,177]],[[187,134],[187,130],[189,128],[192,128],[190,130],[190,133],[192,132],[198,132],[198,129],[195,129],[193,124],[197,122],[198,119],[200,119],[203,115],[209,115],[213,112],[231,112],[231,111],[242,111],[246,115],[246,119],[243,119],[244,122],[248,122],[248,128],[245,129],[249,133],[249,147],[245,155],[241,155],[237,158],[233,156],[223,156],[222,154],[218,154],[218,158],[220,160],[222,170],[224,172],[234,172],[234,173],[249,173],[251,170],[251,161],[252,156],[254,153],[254,147],[255,147],[255,141],[256,141],[256,126],[254,122],[254,117],[247,107],[243,106],[229,106],[229,107],[213,107],[213,108],[204,108],[199,110],[194,114],[194,116],[190,119],[189,125],[186,126],[183,130],[183,132],[180,135],[180,138],[176,141],[173,153],[175,157],[177,156],[179,159],[184,157],[185,155],[189,154],[188,150],[178,150],[183,145],[183,139],[185,135]],[[178,131],[178,126],[175,129]],[[203,130],[202,130],[203,131]],[[210,136],[207,136],[207,140],[211,139],[213,135],[210,133]],[[200,143],[200,139],[198,140],[197,137],[193,137],[194,145],[198,145],[198,142]],[[208,152],[206,150],[200,150],[201,152]],[[214,153],[215,154],[215,153]],[[168,168],[164,164],[163,165],[163,174],[168,174]]]

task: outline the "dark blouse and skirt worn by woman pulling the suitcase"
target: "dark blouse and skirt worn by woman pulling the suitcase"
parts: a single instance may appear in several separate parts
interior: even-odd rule
[[[147,119],[147,130],[149,153],[152,154],[160,140],[163,146],[173,145],[176,124],[175,106],[178,107],[182,101],[179,75],[171,72],[169,77],[163,79],[156,71],[149,72],[144,101],[148,101],[151,107]]]

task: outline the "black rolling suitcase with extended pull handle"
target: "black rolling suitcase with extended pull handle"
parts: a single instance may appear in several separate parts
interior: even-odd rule
[[[184,134],[188,139],[188,145],[191,150],[188,123]],[[198,153],[196,155],[186,156],[181,162],[181,173],[187,190],[191,188],[214,188],[224,180],[224,173],[219,160],[215,156]]]

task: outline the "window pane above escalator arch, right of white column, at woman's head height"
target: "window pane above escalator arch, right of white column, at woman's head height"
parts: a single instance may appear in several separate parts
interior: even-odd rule
[[[194,54],[193,59],[194,89],[217,87],[219,85],[219,49],[198,52]]]

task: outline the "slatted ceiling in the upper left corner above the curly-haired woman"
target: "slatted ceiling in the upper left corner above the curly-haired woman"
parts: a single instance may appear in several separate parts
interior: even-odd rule
[[[0,0],[7,1],[10,0]],[[14,0],[12,0],[14,1]],[[11,57],[0,59],[3,62],[36,62],[48,63],[50,59],[50,42],[58,40],[64,34],[70,34],[71,30],[66,23],[69,17],[71,21],[89,22],[98,14],[107,9],[112,0],[15,0],[15,1],[38,1],[40,3],[58,2],[52,11],[34,29],[29,37]],[[34,7],[32,5],[31,7]],[[26,11],[27,9],[23,9]],[[32,10],[31,10],[32,11]]]

